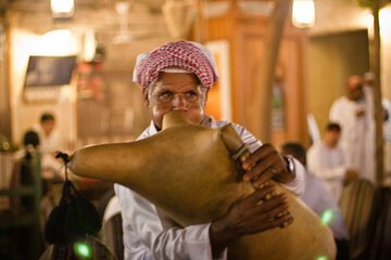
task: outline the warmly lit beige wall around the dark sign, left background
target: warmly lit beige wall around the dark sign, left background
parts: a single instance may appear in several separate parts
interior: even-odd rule
[[[24,132],[38,123],[42,112],[52,112],[55,115],[63,141],[70,148],[85,145],[86,142],[129,140],[142,131],[149,117],[141,100],[141,91],[131,82],[135,60],[137,54],[150,51],[171,38],[162,15],[153,13],[144,4],[133,5],[128,18],[131,35],[114,43],[115,37],[128,31],[119,29],[118,14],[112,4],[101,5],[99,9],[77,9],[71,21],[53,21],[50,10],[35,10],[30,5],[15,5],[7,12],[7,22],[10,25],[7,51],[12,57],[9,84],[13,143],[21,143]],[[45,41],[45,34],[56,29],[71,31],[67,43],[61,39],[50,43]],[[104,101],[99,103],[79,94],[80,75],[77,69],[71,84],[55,87],[54,101],[26,101],[24,80],[28,56],[76,55],[78,64],[89,62],[86,52],[91,50],[91,46],[87,46],[86,39],[90,35],[94,35],[96,43],[99,43],[104,52],[100,72],[105,81]],[[61,49],[61,46],[65,48]],[[93,48],[92,46],[92,50]],[[48,93],[49,88],[45,88],[42,93]],[[89,105],[90,103],[93,105]],[[94,109],[97,104],[102,109]],[[80,117],[80,112],[84,117]],[[97,117],[91,117],[92,114]],[[94,126],[99,126],[101,131],[94,131]],[[80,129],[84,133],[81,143]]]

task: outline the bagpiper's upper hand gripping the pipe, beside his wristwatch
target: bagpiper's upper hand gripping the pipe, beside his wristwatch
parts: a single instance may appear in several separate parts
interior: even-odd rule
[[[294,172],[287,171],[287,162],[270,144],[262,145],[247,157],[242,167],[247,170],[243,180],[251,181],[254,188],[272,178],[281,183],[289,183],[295,178]]]

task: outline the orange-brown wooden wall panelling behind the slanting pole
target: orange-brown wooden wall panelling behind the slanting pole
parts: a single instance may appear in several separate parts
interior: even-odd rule
[[[250,110],[254,88],[256,61],[264,48],[267,17],[249,15],[231,9],[220,17],[206,20],[206,41],[226,39],[230,42],[232,120],[252,131],[258,123]],[[307,144],[305,101],[305,48],[306,36],[289,24],[282,37],[278,57],[285,86],[286,127],[274,130],[272,142],[279,146],[285,141]],[[272,112],[270,112],[272,113]],[[270,126],[265,126],[270,127]]]

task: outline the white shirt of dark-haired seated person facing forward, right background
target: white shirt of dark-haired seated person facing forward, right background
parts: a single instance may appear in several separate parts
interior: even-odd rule
[[[315,143],[308,148],[307,166],[312,173],[325,182],[335,200],[339,202],[346,173],[346,160],[342,148],[330,148],[324,141]]]

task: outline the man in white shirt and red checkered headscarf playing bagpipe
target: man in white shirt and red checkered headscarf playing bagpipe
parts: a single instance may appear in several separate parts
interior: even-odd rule
[[[216,82],[217,73],[212,53],[197,42],[168,42],[140,54],[134,80],[142,88],[152,119],[139,139],[159,132],[163,116],[171,110],[179,110],[193,123],[211,128],[228,123],[203,113],[207,91]],[[257,188],[254,195],[266,196],[267,191],[261,185],[269,178],[294,193],[303,191],[305,170],[299,161],[282,157],[272,145],[262,145],[243,127],[234,125],[234,128],[252,152],[242,167],[247,170],[243,181],[250,181]],[[114,190],[123,217],[125,259],[227,259],[227,247],[234,239],[289,224],[291,220],[278,217],[288,207],[281,195],[263,204],[258,200],[249,204],[251,197],[247,197],[211,223],[179,226],[128,187],[115,184]],[[247,206],[242,207],[242,203]],[[270,205],[266,207],[266,204]],[[277,218],[270,220],[272,216]]]

